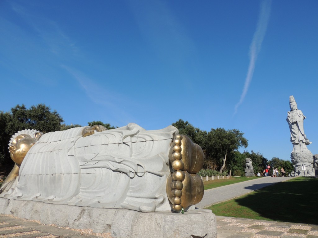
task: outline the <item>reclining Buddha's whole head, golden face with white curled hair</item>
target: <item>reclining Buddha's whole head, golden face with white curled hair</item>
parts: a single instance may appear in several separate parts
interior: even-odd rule
[[[23,130],[16,133],[10,140],[9,151],[11,159],[21,165],[25,155],[31,149],[31,147],[42,136],[41,133],[34,130]]]

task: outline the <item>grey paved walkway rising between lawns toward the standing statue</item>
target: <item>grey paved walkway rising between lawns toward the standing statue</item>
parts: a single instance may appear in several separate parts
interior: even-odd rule
[[[261,177],[245,182],[204,190],[203,199],[201,202],[196,204],[196,207],[206,208],[219,202],[224,202],[250,193],[259,188],[264,188],[277,182],[283,182],[292,178],[293,177]]]

